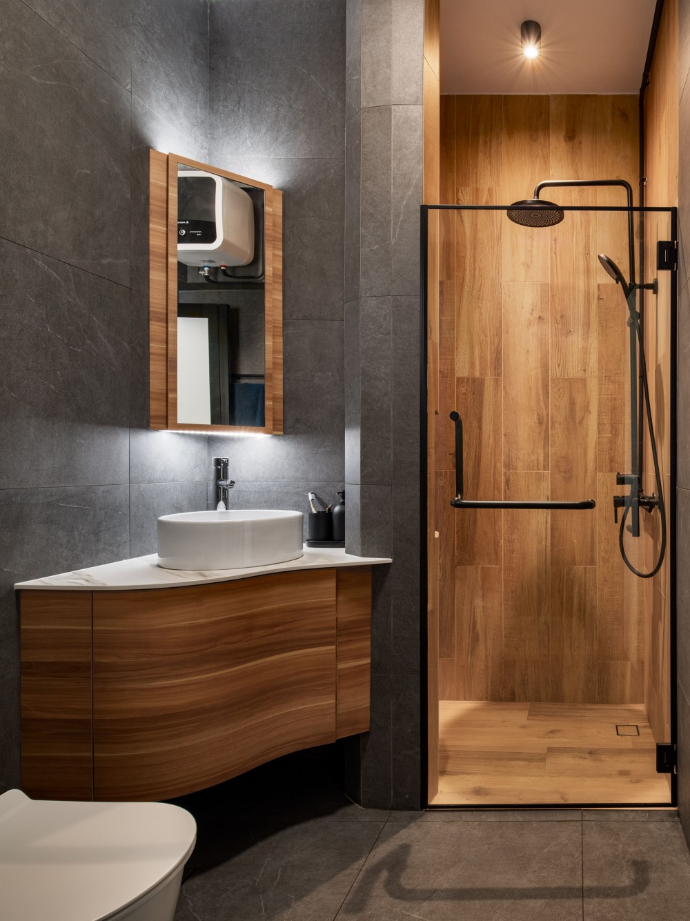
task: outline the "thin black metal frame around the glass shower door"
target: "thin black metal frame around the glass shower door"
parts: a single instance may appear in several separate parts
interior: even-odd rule
[[[670,317],[670,394],[669,394],[669,443],[670,443],[670,490],[668,499],[669,509],[669,579],[671,598],[669,602],[669,631],[670,631],[670,682],[669,688],[671,702],[671,744],[674,752],[673,761],[675,762],[675,752],[677,752],[677,657],[676,657],[676,631],[677,631],[677,600],[676,600],[676,521],[677,521],[677,406],[678,406],[678,269],[677,269],[677,251],[678,251],[678,208],[661,208],[661,207],[608,207],[608,206],[591,206],[586,205],[559,205],[564,212],[567,211],[589,211],[589,212],[617,212],[628,214],[630,211],[635,215],[644,217],[649,214],[666,214],[670,219],[671,239],[676,251],[676,267],[671,271],[671,297],[669,303]],[[420,729],[421,738],[420,746],[422,752],[422,771],[421,771],[421,805],[422,809],[428,810],[476,810],[477,806],[473,804],[459,803],[456,806],[434,806],[428,802],[428,554],[427,554],[427,516],[428,516],[428,470],[427,470],[427,420],[428,420],[428,390],[427,390],[427,319],[428,319],[428,217],[431,211],[502,211],[506,212],[508,204],[423,204],[420,208],[420,380],[419,380],[419,443],[420,443],[420,547],[421,547],[421,591],[420,591],[420,692],[421,692],[421,718]],[[644,220],[641,222],[644,227]],[[644,259],[644,236],[640,234],[639,240],[639,281],[644,284],[647,276],[653,277],[648,272]],[[656,267],[654,272],[656,272]],[[664,270],[660,270],[664,271]],[[641,325],[644,331],[644,311],[641,310]],[[678,805],[678,776],[675,768],[671,774],[671,801],[670,803],[568,803],[567,809],[597,809],[605,807],[606,809],[658,809],[660,806],[677,806]],[[501,803],[497,805],[483,806],[484,810],[500,809],[563,809],[563,805],[555,803],[531,803],[525,806],[524,803]]]

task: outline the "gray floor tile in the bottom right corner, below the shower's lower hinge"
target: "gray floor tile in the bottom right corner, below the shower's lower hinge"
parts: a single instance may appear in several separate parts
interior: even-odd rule
[[[585,921],[686,918],[690,856],[680,822],[584,822]]]

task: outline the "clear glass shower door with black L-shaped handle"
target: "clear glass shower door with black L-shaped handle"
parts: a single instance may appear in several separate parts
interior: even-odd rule
[[[633,287],[628,212],[561,202],[427,212],[433,804],[671,797],[673,215],[635,213]]]

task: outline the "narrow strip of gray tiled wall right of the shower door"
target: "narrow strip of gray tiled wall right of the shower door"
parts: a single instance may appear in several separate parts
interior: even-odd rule
[[[690,0],[679,2],[678,61],[678,809],[690,844]]]

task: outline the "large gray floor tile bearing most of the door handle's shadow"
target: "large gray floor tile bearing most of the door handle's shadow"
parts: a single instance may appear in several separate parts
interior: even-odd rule
[[[578,822],[389,822],[338,921],[579,921]]]

